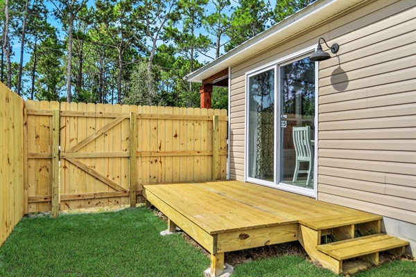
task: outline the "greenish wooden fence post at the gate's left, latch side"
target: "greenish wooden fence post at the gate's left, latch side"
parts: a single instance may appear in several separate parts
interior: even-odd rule
[[[52,111],[52,217],[59,211],[59,110]]]

